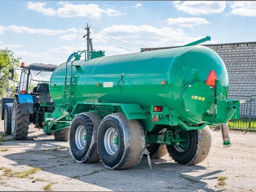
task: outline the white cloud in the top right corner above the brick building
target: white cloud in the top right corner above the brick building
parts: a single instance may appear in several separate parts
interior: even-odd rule
[[[256,2],[255,1],[236,1],[231,2],[230,7],[232,8],[231,14],[241,16],[256,16]]]

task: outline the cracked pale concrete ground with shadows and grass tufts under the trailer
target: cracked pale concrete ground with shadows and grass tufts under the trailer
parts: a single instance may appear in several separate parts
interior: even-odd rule
[[[1,142],[0,191],[256,191],[256,134],[230,135],[232,146],[225,148],[221,133],[212,130],[210,154],[197,165],[177,164],[166,155],[153,159],[152,169],[142,158],[118,171],[102,162],[76,163],[68,142],[30,125],[27,140]]]

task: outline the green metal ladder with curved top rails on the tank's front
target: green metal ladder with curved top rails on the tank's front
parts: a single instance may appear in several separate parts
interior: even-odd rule
[[[65,78],[64,78],[64,88],[63,88],[63,99],[62,99],[62,108],[64,108],[65,111],[71,111],[72,110],[72,104],[71,104],[71,95],[72,95],[72,85],[73,80],[75,80],[73,76],[73,66],[80,66],[77,64],[74,64],[76,60],[80,60],[81,54],[87,53],[87,50],[83,51],[77,51],[73,53],[73,55],[68,58],[66,62],[66,70],[65,70]],[[73,59],[70,63],[70,60]]]

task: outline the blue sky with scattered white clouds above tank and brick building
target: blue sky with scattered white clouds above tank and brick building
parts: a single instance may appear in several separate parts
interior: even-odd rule
[[[256,1],[2,1],[0,49],[20,62],[62,64],[86,50],[106,56],[145,47],[256,41]]]

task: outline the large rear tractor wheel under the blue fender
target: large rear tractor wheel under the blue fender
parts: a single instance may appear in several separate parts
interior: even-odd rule
[[[11,118],[11,136],[14,139],[25,140],[28,137],[29,115],[21,114],[19,99],[14,99]]]

